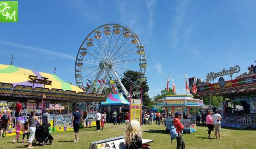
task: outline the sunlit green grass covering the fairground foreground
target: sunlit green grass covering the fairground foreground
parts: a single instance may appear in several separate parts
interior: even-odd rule
[[[165,132],[163,125],[143,125],[143,138],[153,139],[151,149],[175,149],[176,140],[171,144],[170,134]],[[90,142],[113,138],[124,135],[125,125],[113,126],[105,125],[105,130],[96,132],[96,128],[80,129],[79,143],[71,142],[74,140],[74,132],[52,132],[54,137],[53,145],[35,146],[35,149],[88,149]],[[208,128],[198,126],[197,132],[184,134],[186,149],[256,149],[254,144],[256,140],[256,129],[229,129],[221,128],[223,140],[208,139]],[[214,134],[212,133],[212,137]],[[27,143],[12,143],[15,136],[0,138],[0,149],[23,148]],[[20,137],[20,140],[22,136]]]

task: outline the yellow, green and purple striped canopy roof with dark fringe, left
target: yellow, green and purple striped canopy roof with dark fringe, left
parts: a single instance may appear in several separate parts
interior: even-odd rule
[[[85,102],[106,100],[106,95],[87,94],[78,86],[64,82],[55,74],[36,72],[14,65],[0,64],[0,100],[26,101],[41,99],[51,102]]]

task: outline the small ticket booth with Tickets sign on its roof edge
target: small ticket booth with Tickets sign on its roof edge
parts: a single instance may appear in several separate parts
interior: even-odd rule
[[[196,107],[203,107],[203,100],[194,99],[191,95],[166,95],[164,99],[157,100],[157,105],[166,111],[166,130],[173,125],[175,112],[180,112],[183,132],[196,132]]]

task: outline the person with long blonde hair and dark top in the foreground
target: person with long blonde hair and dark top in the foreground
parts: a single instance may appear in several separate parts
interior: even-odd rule
[[[125,131],[126,149],[139,149],[142,147],[142,130],[137,120],[131,120]]]

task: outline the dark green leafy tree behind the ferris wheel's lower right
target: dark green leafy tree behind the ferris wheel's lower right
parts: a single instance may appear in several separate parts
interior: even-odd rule
[[[131,86],[131,82],[136,82],[137,80],[137,76],[138,76],[138,72],[133,72],[133,71],[126,71],[124,72],[124,78],[122,78],[121,82],[122,84],[125,86],[125,89],[127,89],[128,92],[130,92],[130,86]],[[150,98],[148,96],[148,90],[149,87],[147,85],[147,81],[142,83],[143,86],[143,96],[142,96],[142,100],[143,100],[143,105],[148,106],[148,104],[150,103]],[[136,91],[140,91],[140,87],[141,86],[134,86],[134,84],[132,83],[132,92]],[[121,91],[119,91],[121,92]],[[136,95],[136,98],[140,98],[140,95]]]

